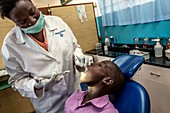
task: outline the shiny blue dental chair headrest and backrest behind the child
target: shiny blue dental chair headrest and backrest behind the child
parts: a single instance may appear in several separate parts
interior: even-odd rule
[[[146,89],[130,79],[143,64],[144,58],[137,55],[122,55],[114,62],[125,75],[126,81],[122,91],[110,95],[110,100],[119,113],[150,113],[150,98]]]

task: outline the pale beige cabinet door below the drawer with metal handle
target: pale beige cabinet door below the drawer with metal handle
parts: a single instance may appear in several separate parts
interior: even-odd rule
[[[140,83],[149,93],[151,113],[170,113],[170,86],[147,78],[141,78]]]

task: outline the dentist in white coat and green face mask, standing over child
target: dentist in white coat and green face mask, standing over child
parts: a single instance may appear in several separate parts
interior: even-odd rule
[[[9,84],[30,98],[36,113],[63,113],[65,100],[79,88],[75,65],[88,61],[74,34],[30,0],[1,0],[0,16],[16,24],[1,50]]]

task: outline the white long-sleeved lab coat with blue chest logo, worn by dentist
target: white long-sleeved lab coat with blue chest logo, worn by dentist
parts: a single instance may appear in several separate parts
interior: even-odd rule
[[[78,79],[73,56],[83,53],[72,31],[61,18],[45,16],[45,30],[48,51],[15,26],[4,39],[1,50],[3,63],[10,75],[9,83],[22,96],[30,98],[37,113],[62,113],[65,100],[78,88],[75,87]],[[33,77],[50,76],[53,69],[71,72],[45,92],[44,97],[37,98]]]

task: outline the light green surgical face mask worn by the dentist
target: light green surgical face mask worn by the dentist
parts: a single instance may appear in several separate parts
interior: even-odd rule
[[[44,27],[44,15],[40,12],[37,22],[28,28],[21,28],[25,33],[34,34],[40,32]]]

